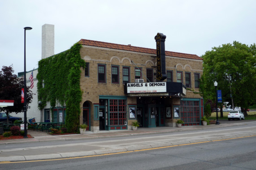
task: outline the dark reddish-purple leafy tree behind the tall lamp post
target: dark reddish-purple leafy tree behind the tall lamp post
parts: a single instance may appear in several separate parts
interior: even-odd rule
[[[1,100],[14,100],[13,106],[0,107],[0,112],[7,114],[7,121],[9,121],[9,113],[20,113],[24,111],[24,103],[22,103],[21,92],[24,87],[24,78],[19,78],[13,74],[12,66],[3,66],[0,71],[0,99]],[[26,87],[26,102],[27,104],[32,101],[32,91],[30,87]]]

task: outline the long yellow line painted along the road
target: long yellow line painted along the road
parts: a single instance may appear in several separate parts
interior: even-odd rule
[[[252,136],[256,136],[256,135],[252,135]],[[196,142],[196,143],[190,143],[190,144],[201,144],[201,143],[216,142],[216,141],[221,141],[221,140],[239,139],[239,138],[252,137],[252,136],[234,137],[234,138],[229,138],[229,139],[211,140],[211,141]],[[177,144],[177,145],[172,145],[172,146],[162,146],[162,147],[157,147],[157,148],[139,149],[139,150],[134,150],[134,151],[125,151],[125,152],[117,152],[117,153],[105,153],[105,154],[100,154],[100,155],[88,155],[88,156],[82,156],[82,157],[67,157],[67,158],[45,159],[45,160],[34,160],[34,161],[13,161],[13,162],[12,161],[1,161],[0,164],[39,162],[39,161],[57,161],[57,160],[78,159],[78,158],[86,158],[86,157],[100,157],[100,156],[115,155],[115,154],[121,154],[121,153],[132,153],[132,152],[141,152],[141,151],[154,150],[154,149],[171,148],[171,147],[184,146],[184,145],[190,145],[190,144]]]

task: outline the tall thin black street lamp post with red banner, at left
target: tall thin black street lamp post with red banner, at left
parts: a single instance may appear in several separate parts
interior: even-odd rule
[[[24,28],[24,138],[27,138],[26,129],[26,30],[31,30],[31,27]]]

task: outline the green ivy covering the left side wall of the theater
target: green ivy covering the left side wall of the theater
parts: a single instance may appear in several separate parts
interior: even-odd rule
[[[65,127],[68,132],[76,132],[79,128],[82,101],[80,68],[86,66],[80,56],[81,47],[81,44],[75,43],[67,51],[41,59],[36,76],[38,101],[41,101],[38,105],[39,110],[43,109],[47,102],[50,102],[51,108],[56,106],[56,102],[60,102],[61,106],[65,105]]]

